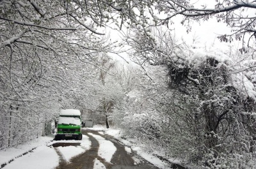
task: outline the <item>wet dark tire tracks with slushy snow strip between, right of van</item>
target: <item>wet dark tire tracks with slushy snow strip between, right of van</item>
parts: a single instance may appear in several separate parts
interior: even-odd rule
[[[141,159],[136,152],[130,149],[129,152],[125,151],[125,146],[113,136],[89,129],[82,132],[92,142],[91,148],[71,159],[70,163],[60,165],[56,169],[157,169],[156,166],[151,165],[145,159]],[[112,148],[100,142],[108,142]],[[109,149],[109,152],[104,152],[103,149]],[[104,159],[104,155],[108,156],[108,158]],[[134,163],[133,158],[138,158],[140,161]]]

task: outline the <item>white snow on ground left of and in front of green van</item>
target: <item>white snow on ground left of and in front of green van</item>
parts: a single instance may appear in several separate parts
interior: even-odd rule
[[[90,149],[91,142],[88,136],[83,135],[82,140],[60,140],[52,141],[54,136],[42,136],[33,142],[20,145],[17,148],[0,151],[0,168],[4,169],[51,169],[59,165],[59,156],[51,146],[54,143],[81,143],[80,146],[57,147],[65,161]],[[24,154],[26,153],[26,154]],[[24,154],[24,155],[23,155]],[[11,163],[9,163],[11,161]]]

